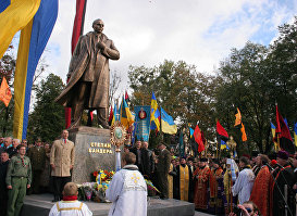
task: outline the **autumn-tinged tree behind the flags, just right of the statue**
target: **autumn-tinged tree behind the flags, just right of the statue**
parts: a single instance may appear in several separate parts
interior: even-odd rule
[[[183,61],[165,60],[154,67],[131,66],[128,78],[134,90],[132,104],[150,104],[153,91],[159,106],[176,119],[180,128],[195,126],[199,122],[207,139],[214,138],[212,107],[219,81],[214,76],[201,74],[196,66]]]

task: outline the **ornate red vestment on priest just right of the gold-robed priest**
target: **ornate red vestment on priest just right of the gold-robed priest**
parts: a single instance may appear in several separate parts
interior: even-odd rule
[[[207,209],[208,207],[208,180],[210,168],[197,168],[194,171],[195,189],[194,189],[194,203],[196,208]]]

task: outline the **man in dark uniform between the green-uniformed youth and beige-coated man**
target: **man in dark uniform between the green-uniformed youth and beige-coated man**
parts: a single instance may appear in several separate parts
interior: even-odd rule
[[[46,150],[41,147],[40,138],[36,140],[35,147],[29,150],[28,157],[30,158],[33,171],[32,192],[38,194],[40,193],[41,173],[46,165]]]

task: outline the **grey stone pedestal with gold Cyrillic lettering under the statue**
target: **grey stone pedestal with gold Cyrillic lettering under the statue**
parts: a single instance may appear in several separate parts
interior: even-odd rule
[[[110,143],[109,129],[82,126],[70,129],[69,134],[69,139],[75,144],[72,181],[89,182],[95,170],[114,170],[115,152]]]

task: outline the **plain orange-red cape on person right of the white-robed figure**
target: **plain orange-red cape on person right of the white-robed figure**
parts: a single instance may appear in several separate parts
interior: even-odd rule
[[[269,216],[269,198],[270,198],[270,170],[267,166],[262,167],[253,182],[250,201],[252,201],[260,209],[263,216]]]

